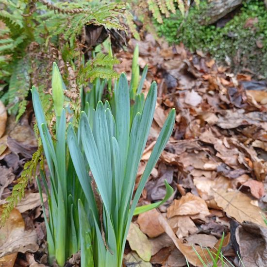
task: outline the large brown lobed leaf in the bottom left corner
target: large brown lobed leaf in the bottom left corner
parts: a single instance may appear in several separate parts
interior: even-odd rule
[[[35,252],[38,248],[35,230],[24,231],[23,218],[17,209],[13,209],[0,229],[0,257],[14,252]]]

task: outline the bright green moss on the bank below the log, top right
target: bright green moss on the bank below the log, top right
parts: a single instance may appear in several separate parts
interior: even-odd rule
[[[183,42],[190,50],[209,52],[220,63],[231,59],[235,72],[249,68],[261,78],[267,78],[267,11],[262,0],[248,0],[223,28],[200,25],[206,1],[199,9],[192,7],[183,19],[179,10],[155,25],[161,36],[171,44]],[[257,18],[252,27],[245,27],[249,18]],[[262,48],[258,48],[261,44]]]

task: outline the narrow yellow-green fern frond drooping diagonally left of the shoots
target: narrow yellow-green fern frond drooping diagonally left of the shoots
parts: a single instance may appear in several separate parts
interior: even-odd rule
[[[21,176],[17,179],[17,184],[13,187],[11,196],[6,198],[7,203],[3,205],[3,211],[0,218],[0,226],[3,226],[9,217],[11,211],[17,205],[17,202],[24,197],[25,188],[29,181],[32,180],[32,177],[35,175],[36,168],[38,163],[43,162],[43,148],[40,145],[38,150],[33,153],[33,158],[31,161],[25,163]],[[43,163],[40,165],[42,166]]]

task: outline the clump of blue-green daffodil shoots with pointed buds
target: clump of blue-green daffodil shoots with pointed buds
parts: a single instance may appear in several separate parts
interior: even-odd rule
[[[162,201],[137,207],[175,121],[172,109],[134,192],[157,99],[155,82],[146,98],[141,93],[147,67],[140,79],[137,59],[138,48],[134,51],[130,86],[125,74],[121,74],[118,81],[113,81],[109,101],[103,103],[103,89],[111,83],[97,80],[91,91],[81,94],[78,116],[70,109],[65,85],[54,63],[55,134],[48,130],[37,89],[32,88],[34,112],[50,172],[50,179],[44,173],[37,178],[40,193],[45,188],[48,195],[45,223],[50,264],[56,262],[62,267],[67,258],[81,250],[82,267],[121,267],[133,216],[158,207],[173,193],[165,181],[166,196]]]

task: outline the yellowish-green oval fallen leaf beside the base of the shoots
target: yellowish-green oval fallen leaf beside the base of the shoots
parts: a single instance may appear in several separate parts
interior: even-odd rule
[[[148,262],[151,258],[151,244],[148,237],[141,232],[138,226],[131,223],[127,240],[132,250],[136,251],[139,257]]]

